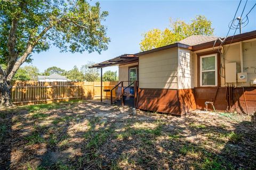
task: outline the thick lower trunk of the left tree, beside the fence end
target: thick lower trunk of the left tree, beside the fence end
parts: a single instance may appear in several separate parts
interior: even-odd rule
[[[12,106],[10,85],[7,83],[4,75],[0,74],[0,107]]]

